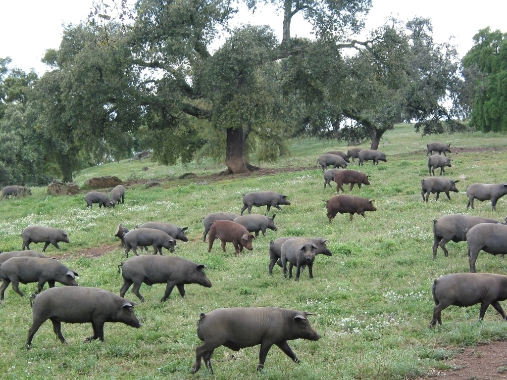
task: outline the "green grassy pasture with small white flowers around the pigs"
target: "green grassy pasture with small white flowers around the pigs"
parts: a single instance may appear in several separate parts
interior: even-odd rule
[[[429,203],[421,197],[421,180],[428,176],[427,142],[451,143],[452,167],[445,176],[459,179],[459,193],[451,201],[441,194]],[[368,147],[364,144],[363,147]],[[487,148],[487,149],[486,149]],[[91,177],[116,175],[136,180],[127,186],[126,203],[114,209],[86,209],[83,194],[51,197],[46,188],[32,188],[33,196],[0,202],[0,249],[21,249],[21,230],[39,224],[67,231],[70,243],[61,250],[49,246],[46,254],[60,258],[80,274],[81,286],[100,287],[116,294],[123,283],[118,264],[125,261],[124,250],[114,236],[122,223],[128,229],[146,221],[165,221],[188,226],[189,242],[178,242],[174,254],[207,265],[211,288],[186,285],[182,298],[176,289],[160,303],[165,285],[142,285],[147,302],[135,307],[142,327],[106,323],[105,341],[83,343],[92,334],[91,324],[62,324],[67,345],[62,345],[46,321],[35,334],[32,348],[26,350],[31,309],[27,296],[19,297],[12,287],[6,291],[5,307],[0,307],[0,373],[3,379],[404,379],[429,373],[432,368],[447,369],[446,359],[463,347],[505,338],[507,324],[493,308],[478,322],[479,307],[450,307],[443,311],[443,326],[429,329],[433,300],[430,286],[441,275],[467,272],[465,242],[448,243],[449,257],[440,250],[432,260],[432,219],[449,213],[479,215],[503,220],[507,216],[507,197],[500,199],[496,211],[489,201],[476,201],[466,209],[467,185],[505,181],[507,136],[501,134],[455,134],[425,136],[410,125],[388,131],[379,147],[387,163],[367,162],[351,168],[369,174],[371,185],[352,195],[375,200],[376,212],[366,218],[338,214],[332,223],[325,216],[324,201],[335,195],[335,187],[323,188],[322,170],[316,164],[319,154],[328,150],[347,150],[342,142],[298,139],[292,153],[278,162],[257,164],[263,168],[289,170],[259,176],[220,177],[225,167],[202,161],[186,166],[164,167],[146,161],[121,161],[100,165],[76,174],[80,186]],[[143,168],[148,168],[143,170]],[[290,170],[298,168],[298,170]],[[302,168],[302,170],[301,170]],[[183,173],[196,177],[178,180]],[[206,177],[201,177],[206,176]],[[159,178],[160,185],[149,187],[144,180]],[[203,179],[205,178],[205,179]],[[334,184],[334,182],[332,182]],[[348,186],[345,186],[348,194]],[[227,244],[202,241],[201,218],[215,211],[239,213],[241,198],[251,191],[271,190],[285,194],[291,206],[276,214],[278,231],[253,241],[253,250],[239,257]],[[107,189],[110,191],[110,189]],[[265,214],[266,208],[252,208]],[[329,240],[333,256],[318,255],[313,266],[299,281],[283,280],[275,266],[268,274],[269,243],[283,236],[323,237]],[[42,250],[42,244],[31,249]],[[102,250],[93,256],[90,252]],[[164,254],[170,254],[164,250]],[[478,272],[507,273],[507,259],[480,253]],[[57,286],[62,286],[57,284]],[[20,285],[30,294],[36,284]],[[47,288],[47,285],[46,287]],[[131,292],[126,298],[139,301]],[[214,374],[204,364],[192,375],[195,348],[201,344],[196,322],[201,312],[224,307],[276,306],[314,313],[308,319],[322,335],[316,342],[289,341],[302,361],[295,364],[276,346],[268,353],[264,371],[256,368],[259,346],[233,352],[215,350],[211,360]]]

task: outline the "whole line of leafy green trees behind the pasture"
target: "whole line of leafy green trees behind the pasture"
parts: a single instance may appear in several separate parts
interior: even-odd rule
[[[100,0],[46,51],[41,77],[0,59],[0,184],[70,182],[145,149],[162,164],[211,157],[240,173],[296,136],[376,149],[402,121],[423,135],[507,130],[505,33],[480,30],[460,60],[425,18],[358,39],[370,0],[270,3],[281,41],[267,25],[231,27],[229,0],[138,0],[117,18]],[[314,38],[292,36],[296,14]]]

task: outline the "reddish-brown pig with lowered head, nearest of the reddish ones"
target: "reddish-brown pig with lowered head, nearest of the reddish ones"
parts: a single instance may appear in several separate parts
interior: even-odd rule
[[[236,256],[238,256],[239,252],[243,251],[243,247],[249,251],[253,249],[252,239],[255,239],[255,237],[239,223],[233,222],[232,220],[216,220],[211,224],[211,228],[209,229],[208,252],[211,252],[211,247],[213,247],[213,242],[216,239],[222,241],[222,250],[224,252],[225,244],[232,243]]]

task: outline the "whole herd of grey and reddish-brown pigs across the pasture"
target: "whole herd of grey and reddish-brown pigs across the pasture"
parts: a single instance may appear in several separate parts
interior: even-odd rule
[[[433,151],[438,154],[433,154]],[[440,193],[445,193],[450,199],[449,192],[458,192],[456,183],[459,181],[434,176],[434,169],[440,168],[440,175],[442,175],[444,168],[451,166],[451,160],[446,153],[451,153],[450,145],[437,142],[427,145],[426,155],[431,154],[428,158],[430,176],[423,179],[421,183],[421,195],[425,202],[428,202],[430,193],[436,193],[436,201],[438,201]],[[350,192],[354,184],[357,184],[359,189],[363,184],[370,184],[368,179],[370,176],[347,169],[350,159],[352,161],[358,159],[359,166],[362,166],[365,161],[373,161],[374,165],[378,165],[379,161],[387,162],[385,154],[378,150],[349,149],[346,154],[341,151],[329,151],[317,159],[323,170],[324,188],[327,185],[331,186],[331,181],[334,181],[337,184],[338,194],[340,191],[344,192],[344,184],[350,185]],[[333,168],[328,169],[331,166]],[[30,189],[24,186],[6,186],[2,190],[2,198],[30,194]],[[505,194],[507,194],[507,183],[475,183],[466,189],[468,197],[466,207],[474,208],[474,199],[478,199],[491,200],[491,205],[495,209],[496,202]],[[116,186],[110,196],[101,192],[89,192],[84,200],[87,207],[92,207],[94,203],[98,204],[99,208],[115,207],[118,203],[124,203],[125,187]],[[374,200],[362,197],[337,195],[326,202],[327,217],[330,223],[338,213],[349,213],[350,220],[353,214],[365,217],[366,211],[377,210],[373,202]],[[291,205],[285,195],[271,191],[251,192],[243,195],[243,207],[240,214],[214,212],[205,216],[203,241],[206,242],[206,237],[208,237],[208,252],[211,251],[216,239],[221,240],[224,252],[226,252],[227,243],[232,243],[236,255],[239,255],[243,248],[251,250],[252,239],[258,237],[260,232],[265,236],[266,230],[277,230],[274,223],[276,214],[271,217],[251,214],[252,206],[267,206],[269,212],[271,207],[281,210],[281,205]],[[243,215],[245,210],[248,211],[248,215]],[[48,319],[53,323],[53,330],[62,343],[65,343],[65,338],[61,333],[61,322],[91,322],[93,335],[87,337],[86,340],[98,338],[103,341],[105,322],[122,322],[138,328],[141,324],[134,314],[134,306],[137,303],[124,298],[131,286],[132,292],[141,302],[145,301],[139,292],[143,283],[147,285],[165,283],[166,289],[161,301],[169,297],[174,286],[182,297],[185,296],[185,284],[212,286],[204,273],[206,265],[183,257],[162,256],[162,248],[174,252],[176,240],[188,241],[186,230],[187,227],[180,228],[171,223],[148,222],[128,231],[120,224],[116,236],[125,246],[126,261],[118,265],[118,272],[121,272],[123,276],[123,285],[118,296],[99,288],[78,287],[77,272],[70,270],[58,260],[30,250],[30,243],[45,243],[43,252],[50,244],[59,249],[59,242],[69,243],[65,231],[43,226],[28,226],[21,234],[22,250],[0,254],[0,279],[2,280],[0,303],[4,305],[2,301],[9,284],[12,283],[13,290],[23,296],[24,294],[19,290],[19,283],[38,283],[37,293],[31,295],[33,323],[28,330],[27,349],[30,348],[34,334]],[[481,303],[480,320],[483,319],[489,305],[492,305],[502,318],[507,320],[507,315],[499,303],[507,299],[507,276],[475,273],[475,263],[481,250],[493,255],[507,253],[507,218],[504,222],[500,222],[479,216],[444,215],[439,219],[433,219],[433,237],[433,259],[436,258],[438,247],[441,247],[447,256],[448,251],[445,245],[448,242],[466,241],[470,273],[454,273],[434,280],[431,292],[435,307],[430,327],[437,323],[442,324],[441,312],[451,305],[472,306]],[[296,280],[299,279],[304,268],[308,268],[309,277],[313,278],[315,256],[333,254],[326,242],[327,240],[323,238],[292,236],[272,240],[269,246],[269,274],[272,276],[273,267],[278,264],[283,269],[284,279],[287,269],[288,277],[292,278],[294,267],[296,267]],[[153,247],[153,255],[138,254],[138,248],[142,250],[150,246]],[[135,256],[128,259],[130,251],[134,252]],[[49,289],[42,291],[46,282],[49,284]],[[55,287],[55,282],[70,286]],[[197,335],[203,344],[196,348],[196,361],[191,371],[197,372],[201,361],[204,360],[206,367],[212,372],[211,355],[220,346],[238,351],[244,347],[261,345],[258,370],[264,367],[267,353],[272,345],[278,346],[288,357],[298,363],[299,359],[287,344],[287,340],[297,338],[318,340],[320,338],[320,335],[310,326],[308,315],[312,314],[274,307],[224,308],[207,314],[201,313]],[[266,320],[270,323],[263,323]]]

